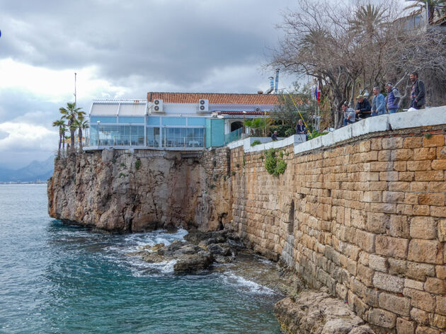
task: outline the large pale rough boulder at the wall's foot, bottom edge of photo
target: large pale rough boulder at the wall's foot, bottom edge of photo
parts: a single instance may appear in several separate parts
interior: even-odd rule
[[[343,301],[325,292],[306,290],[296,299],[282,299],[274,313],[286,334],[374,334]]]

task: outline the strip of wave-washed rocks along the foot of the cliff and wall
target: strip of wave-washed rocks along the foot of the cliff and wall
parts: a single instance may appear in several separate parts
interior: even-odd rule
[[[285,263],[274,265],[245,248],[229,231],[190,231],[185,241],[166,246],[142,246],[128,256],[140,256],[149,263],[175,261],[177,275],[202,270],[231,270],[285,296],[275,304],[274,313],[284,334],[374,334],[362,318],[348,309],[346,302],[333,298],[328,289],[306,287],[299,275]],[[268,265],[267,265],[268,263]],[[212,266],[213,265],[213,266]]]

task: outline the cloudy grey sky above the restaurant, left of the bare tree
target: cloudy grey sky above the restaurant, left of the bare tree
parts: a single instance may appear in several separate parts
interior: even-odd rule
[[[74,101],[148,91],[256,93],[295,0],[0,0],[0,166],[45,160]],[[282,79],[282,78],[281,78]],[[289,85],[292,78],[281,80]]]

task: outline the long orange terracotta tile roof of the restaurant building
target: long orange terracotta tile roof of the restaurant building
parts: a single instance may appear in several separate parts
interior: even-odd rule
[[[200,99],[210,104],[278,105],[280,99],[274,94],[231,94],[231,93],[147,93],[147,100],[160,99],[164,103],[198,103]]]

